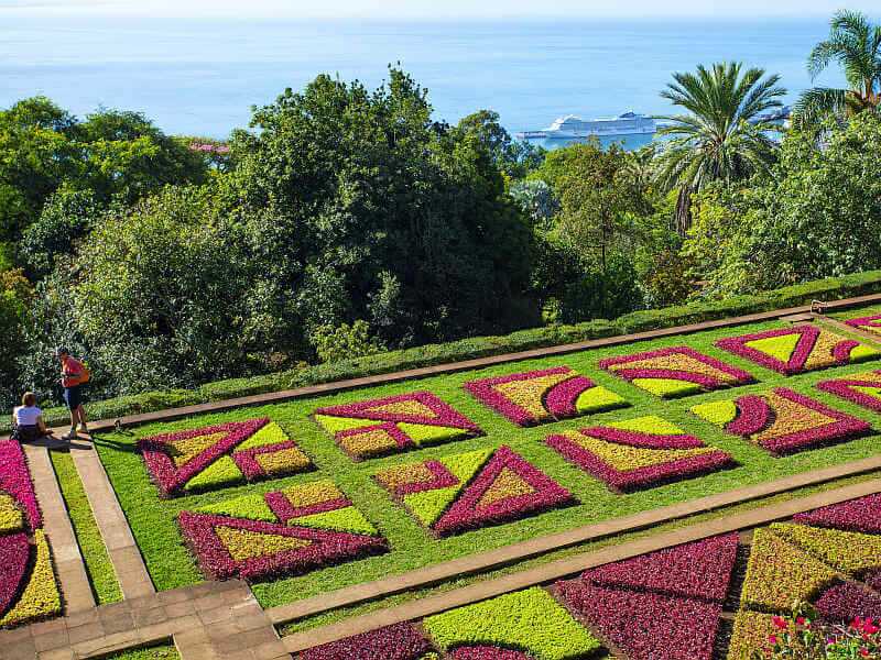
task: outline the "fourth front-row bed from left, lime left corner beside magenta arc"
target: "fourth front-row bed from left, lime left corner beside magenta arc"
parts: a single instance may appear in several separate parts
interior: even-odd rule
[[[733,402],[700,404],[692,413],[776,455],[850,440],[871,430],[868,422],[785,387]]]

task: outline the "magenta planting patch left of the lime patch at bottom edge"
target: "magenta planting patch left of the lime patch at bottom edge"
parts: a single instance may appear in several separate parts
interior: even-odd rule
[[[432,650],[410,624],[395,624],[315,647],[300,653],[301,660],[420,660]]]

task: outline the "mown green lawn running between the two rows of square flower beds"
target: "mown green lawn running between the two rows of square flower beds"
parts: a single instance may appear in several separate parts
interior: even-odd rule
[[[879,424],[881,424],[879,415],[819,392],[814,387],[814,384],[818,381],[834,375],[858,373],[867,369],[873,369],[873,365],[878,365],[877,369],[881,369],[881,361],[784,376],[713,345],[713,342],[720,338],[760,332],[780,327],[785,326],[782,323],[759,323],[701,334],[666,338],[653,342],[640,342],[638,344],[587,351],[572,355],[504,364],[469,373],[437,376],[417,382],[400,383],[287,404],[241,409],[173,424],[150,425],[135,429],[133,435],[113,433],[101,436],[97,442],[99,454],[129,518],[148,569],[156,587],[160,590],[183,586],[203,580],[194,557],[185,548],[182,540],[176,522],[177,514],[182,510],[193,510],[197,507],[244,494],[264,494],[295,484],[307,484],[319,479],[330,479],[352,504],[376,525],[380,534],[388,539],[391,551],[385,554],[317,570],[296,578],[255,584],[253,586],[254,593],[261,604],[264,607],[269,607],[324,591],[376,580],[389,574],[400,573],[481,550],[498,548],[529,538],[762,483],[877,453],[879,436],[872,432],[840,444],[801,451],[785,458],[775,458],[769,451],[740,437],[729,435],[721,428],[688,411],[690,407],[697,404],[721,402],[742,395],[763,393],[772,387],[785,386],[836,410],[869,421],[874,427],[881,428],[879,427]],[[719,389],[665,400],[597,366],[598,362],[606,358],[683,344],[752,374],[757,383],[735,389]],[[631,407],[524,428],[509,421],[497,410],[482,405],[463,388],[463,384],[468,381],[559,366],[569,366],[594,381],[597,385],[620,395],[632,404]],[[486,435],[483,437],[465,438],[444,444],[425,447],[403,454],[355,462],[334,442],[325,430],[309,418],[309,415],[319,407],[390,397],[414,391],[428,391],[437,395],[456,411],[480,427]],[[544,443],[545,438],[551,435],[576,431],[585,427],[606,426],[652,415],[663,417],[684,433],[699,439],[709,448],[727,452],[738,465],[733,469],[716,471],[704,476],[620,494],[612,492],[602,481],[591,476],[578,464],[567,461]],[[316,472],[260,482],[253,485],[186,495],[175,499],[159,498],[159,492],[151,483],[144,463],[135,451],[138,438],[262,416],[270,417],[296,441],[300,448],[313,459],[317,466]],[[404,507],[395,503],[388,491],[372,479],[376,472],[394,465],[432,459],[447,459],[454,454],[481,449],[496,449],[501,444],[510,447],[513,452],[531,463],[544,475],[569,491],[579,504],[545,510],[513,522],[481,527],[472,531],[455,534],[438,539],[432,530],[421,525]]]

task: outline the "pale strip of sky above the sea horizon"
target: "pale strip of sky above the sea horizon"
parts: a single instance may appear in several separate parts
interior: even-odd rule
[[[0,0],[0,15],[75,13],[150,16],[483,19],[500,16],[828,15],[877,12],[878,0]]]

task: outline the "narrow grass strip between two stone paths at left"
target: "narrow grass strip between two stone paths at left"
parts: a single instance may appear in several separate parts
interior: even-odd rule
[[[91,507],[79,481],[79,474],[74,465],[74,459],[67,450],[52,450],[48,452],[55,475],[58,477],[62,497],[67,506],[67,513],[74,527],[79,551],[86,562],[86,573],[91,583],[91,591],[99,605],[117,603],[122,600],[122,592],[117,582],[113,564],[104,544],[98,524],[91,515]]]

